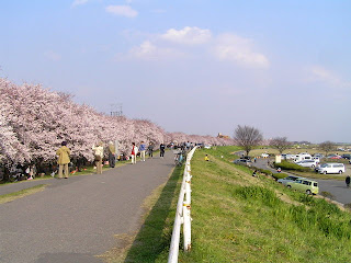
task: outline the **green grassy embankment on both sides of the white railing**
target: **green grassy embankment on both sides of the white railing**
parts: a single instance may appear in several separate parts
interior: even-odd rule
[[[192,251],[181,251],[179,262],[350,262],[349,213],[270,178],[252,178],[248,168],[229,162],[234,150],[194,155]],[[211,162],[204,161],[205,153]],[[126,262],[167,262],[180,182],[176,170]]]

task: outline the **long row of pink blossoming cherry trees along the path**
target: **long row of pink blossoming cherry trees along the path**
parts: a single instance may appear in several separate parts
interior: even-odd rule
[[[0,78],[0,162],[50,162],[63,140],[75,157],[90,161],[91,147],[99,141],[118,140],[120,150],[126,153],[132,141],[140,140],[233,144],[211,136],[166,133],[149,121],[107,116],[72,102],[68,94]]]

